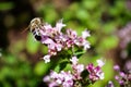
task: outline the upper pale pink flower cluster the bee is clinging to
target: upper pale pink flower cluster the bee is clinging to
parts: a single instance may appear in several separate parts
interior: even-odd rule
[[[90,48],[90,42],[86,40],[86,37],[90,36],[87,30],[84,30],[82,36],[78,36],[76,32],[72,29],[66,29],[66,33],[62,33],[61,29],[66,24],[62,24],[62,20],[60,20],[55,27],[49,24],[40,27],[40,42],[48,47],[48,54],[44,57],[46,63],[50,62],[51,55],[56,55],[62,49],[74,46],[83,47],[84,50]]]

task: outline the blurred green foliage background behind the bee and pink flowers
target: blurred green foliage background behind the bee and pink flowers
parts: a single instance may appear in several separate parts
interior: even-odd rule
[[[91,49],[80,63],[96,63],[99,58],[106,62],[105,79],[93,87],[105,87],[108,80],[120,87],[114,79],[112,65],[131,69],[127,65],[131,64],[130,0],[1,0],[0,87],[46,87],[43,77],[57,62],[45,64],[40,58],[47,48],[35,41],[29,30],[22,34],[34,17],[51,25],[63,18],[67,28],[79,35],[87,28]]]

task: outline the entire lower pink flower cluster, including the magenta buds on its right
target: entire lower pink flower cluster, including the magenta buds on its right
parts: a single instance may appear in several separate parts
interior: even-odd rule
[[[72,71],[68,71],[68,72],[61,71],[60,73],[51,71],[49,75],[44,77],[44,82],[48,83],[49,87],[56,87],[56,86],[57,87],[61,87],[61,86],[62,87],[78,87],[78,86],[82,87],[83,84],[87,82],[96,82],[98,79],[104,78],[104,73],[100,69],[102,66],[94,67],[93,64],[88,64],[85,69],[83,64],[78,63],[79,60],[76,57],[72,57],[70,61],[71,61]],[[85,75],[86,77],[83,77],[82,73],[84,71],[88,72],[90,75],[86,74]],[[87,78],[90,79],[86,80]]]

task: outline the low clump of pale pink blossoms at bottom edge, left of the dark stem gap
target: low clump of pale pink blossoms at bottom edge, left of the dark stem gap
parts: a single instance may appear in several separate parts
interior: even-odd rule
[[[48,80],[50,79],[50,80]],[[44,78],[48,86],[73,87],[73,76],[69,72],[61,71],[60,73],[51,71],[50,75]]]

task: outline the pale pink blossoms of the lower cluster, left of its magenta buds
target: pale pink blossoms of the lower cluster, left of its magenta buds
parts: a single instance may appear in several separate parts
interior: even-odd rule
[[[61,71],[60,73],[51,71],[50,75],[44,77],[44,82],[48,83],[49,87],[62,86],[62,87],[74,87],[74,80],[81,79],[81,73],[84,70],[83,64],[78,64],[78,58],[72,57],[70,59],[72,63],[72,72]]]

